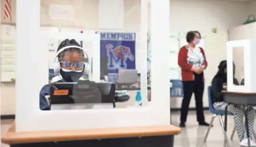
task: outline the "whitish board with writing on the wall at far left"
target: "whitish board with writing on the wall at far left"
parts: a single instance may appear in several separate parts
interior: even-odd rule
[[[16,27],[1,24],[1,82],[15,81]]]

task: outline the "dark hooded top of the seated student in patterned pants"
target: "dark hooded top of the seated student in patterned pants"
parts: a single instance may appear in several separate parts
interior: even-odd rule
[[[213,103],[215,102],[223,102],[223,93],[221,92],[222,90],[226,90],[223,87],[224,83],[227,83],[226,81],[226,73],[224,73],[224,69],[226,68],[226,60],[221,61],[220,65],[218,66],[219,71],[213,77],[212,79],[212,98],[213,98]],[[235,70],[235,66],[233,65],[233,69]],[[233,72],[234,74],[234,72]],[[236,78],[233,79],[234,85],[239,85],[238,81]]]

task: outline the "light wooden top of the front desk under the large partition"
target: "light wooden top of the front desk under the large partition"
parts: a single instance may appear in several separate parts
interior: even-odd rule
[[[22,144],[35,142],[94,140],[104,138],[178,135],[179,133],[181,133],[181,128],[173,125],[133,128],[80,129],[72,131],[15,132],[15,123],[13,123],[9,131],[3,135],[2,143]]]

